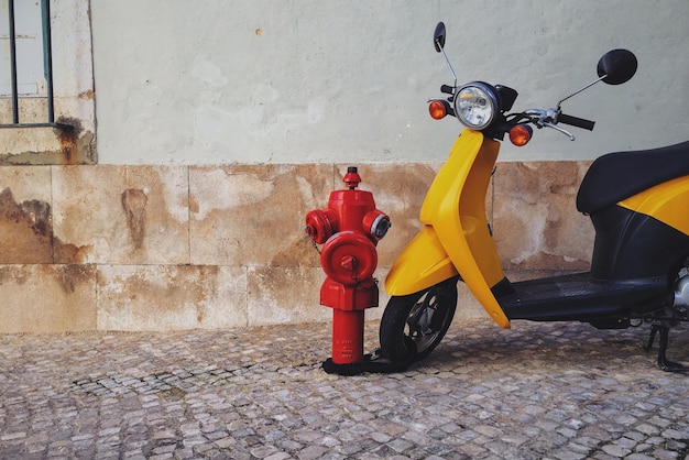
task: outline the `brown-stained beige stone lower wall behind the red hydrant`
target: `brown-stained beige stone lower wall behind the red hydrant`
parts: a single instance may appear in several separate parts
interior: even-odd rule
[[[2,166],[0,332],[329,320],[304,217],[346,166]],[[380,280],[417,231],[438,166],[359,165],[393,221]],[[584,166],[499,163],[488,211],[508,276],[588,267],[592,229],[573,205]],[[460,302],[459,316],[483,315],[466,292]]]

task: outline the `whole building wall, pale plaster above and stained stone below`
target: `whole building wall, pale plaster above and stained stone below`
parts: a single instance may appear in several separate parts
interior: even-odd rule
[[[458,133],[426,116],[450,80],[430,44],[439,19],[460,78],[508,83],[529,107],[588,81],[611,47],[639,56],[630,84],[568,106],[599,121],[593,133],[505,147],[490,190],[511,278],[586,270],[592,228],[573,197],[589,158],[683,140],[686,121],[658,120],[688,119],[687,3],[477,4],[92,0],[97,91],[76,99],[97,102],[100,164],[0,166],[0,332],[327,321],[304,216],[357,164],[393,220],[379,278],[418,230]],[[505,36],[520,40],[506,50]],[[460,304],[485,317],[464,291]]]

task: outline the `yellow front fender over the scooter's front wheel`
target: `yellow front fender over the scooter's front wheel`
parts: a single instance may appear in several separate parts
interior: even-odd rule
[[[425,226],[390,269],[385,292],[391,296],[414,294],[457,274],[435,230]]]

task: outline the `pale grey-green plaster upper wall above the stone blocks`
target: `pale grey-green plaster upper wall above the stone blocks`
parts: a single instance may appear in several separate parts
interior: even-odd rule
[[[503,161],[591,160],[689,128],[686,0],[90,4],[101,164],[442,161],[459,123],[427,114],[452,83],[438,21],[459,83],[513,87],[517,110],[554,107],[609,50],[638,57],[627,84],[564,103],[593,132],[544,130]]]

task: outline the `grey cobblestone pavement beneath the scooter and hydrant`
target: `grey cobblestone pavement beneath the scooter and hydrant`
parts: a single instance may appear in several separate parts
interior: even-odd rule
[[[0,458],[687,458],[689,375],[647,333],[474,321],[348,377],[320,369],[329,325],[0,336]],[[669,354],[689,361],[687,329]]]

